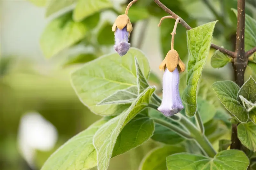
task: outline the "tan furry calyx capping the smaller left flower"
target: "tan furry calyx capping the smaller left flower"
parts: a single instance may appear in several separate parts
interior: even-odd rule
[[[119,30],[122,30],[125,26],[126,26],[126,29],[127,29],[128,32],[132,31],[132,23],[131,23],[130,18],[128,17],[128,15],[124,15],[124,14],[119,15],[116,18],[116,21],[112,26],[112,31],[113,32],[116,31],[116,27]]]

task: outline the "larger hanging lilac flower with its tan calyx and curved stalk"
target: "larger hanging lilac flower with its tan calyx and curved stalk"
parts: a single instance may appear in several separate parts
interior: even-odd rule
[[[161,25],[163,17],[158,26]],[[172,18],[172,17],[170,17]],[[159,69],[164,70],[163,77],[163,100],[161,106],[157,109],[161,111],[164,116],[170,117],[180,110],[184,109],[180,99],[179,83],[180,74],[179,72],[185,71],[185,64],[180,60],[179,54],[173,49],[174,46],[174,35],[176,34],[177,24],[180,18],[176,19],[173,31],[172,31],[172,44],[171,50],[166,54],[163,62],[160,64]]]

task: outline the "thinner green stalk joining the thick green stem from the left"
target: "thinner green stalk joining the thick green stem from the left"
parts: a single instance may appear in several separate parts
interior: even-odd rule
[[[180,135],[184,138],[187,138],[187,139],[192,139],[190,134],[188,134],[186,131],[183,131],[182,129],[180,129],[176,125],[173,125],[173,124],[171,124],[169,122],[166,122],[164,120],[161,120],[161,119],[156,119],[156,118],[152,118],[152,119],[154,120],[155,123],[161,124],[161,125],[167,127],[168,129],[171,129],[172,131],[176,132],[178,135]]]

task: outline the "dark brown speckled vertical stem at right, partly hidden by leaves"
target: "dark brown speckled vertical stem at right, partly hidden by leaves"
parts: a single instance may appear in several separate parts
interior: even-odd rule
[[[244,51],[244,27],[245,27],[245,0],[237,0],[237,27],[236,27],[236,51],[233,62],[235,81],[239,87],[244,84],[244,71],[248,58]],[[241,142],[237,137],[237,125],[232,125],[230,149],[241,149]]]

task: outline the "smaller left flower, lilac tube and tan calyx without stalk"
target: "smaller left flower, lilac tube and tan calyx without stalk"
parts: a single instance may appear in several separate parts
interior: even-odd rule
[[[119,15],[112,27],[112,31],[115,32],[114,48],[120,56],[123,56],[131,46],[128,42],[129,35],[132,31],[130,18],[127,15]]]

